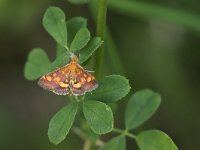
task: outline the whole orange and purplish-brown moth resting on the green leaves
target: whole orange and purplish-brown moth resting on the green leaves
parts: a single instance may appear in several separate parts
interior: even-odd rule
[[[72,54],[70,63],[42,76],[38,85],[58,95],[84,95],[98,87],[95,77],[78,64]]]

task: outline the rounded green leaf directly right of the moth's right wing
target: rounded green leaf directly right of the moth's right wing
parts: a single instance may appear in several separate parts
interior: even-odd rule
[[[119,75],[110,75],[99,81],[99,87],[87,94],[86,99],[112,103],[125,97],[130,91],[128,80]]]

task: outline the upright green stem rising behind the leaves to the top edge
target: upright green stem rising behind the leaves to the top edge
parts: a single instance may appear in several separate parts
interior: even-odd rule
[[[106,26],[106,12],[107,12],[107,0],[98,1],[98,14],[97,14],[97,36],[105,40],[105,26]],[[103,58],[104,58],[104,45],[102,45],[96,53],[95,70],[97,78],[100,78],[103,70]]]

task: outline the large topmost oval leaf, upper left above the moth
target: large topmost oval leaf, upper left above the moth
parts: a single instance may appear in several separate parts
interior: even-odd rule
[[[57,43],[67,48],[65,14],[58,7],[50,7],[44,14],[43,25]]]

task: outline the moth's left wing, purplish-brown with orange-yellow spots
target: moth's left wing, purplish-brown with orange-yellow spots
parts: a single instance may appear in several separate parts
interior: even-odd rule
[[[52,91],[58,95],[69,93],[68,83],[69,69],[68,65],[44,75],[39,79],[38,85],[42,88]]]

